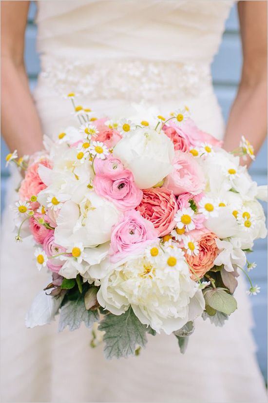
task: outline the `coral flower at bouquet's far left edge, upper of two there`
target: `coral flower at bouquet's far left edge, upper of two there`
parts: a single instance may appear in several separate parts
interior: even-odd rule
[[[47,168],[52,168],[51,162],[44,158],[35,164],[31,165],[25,174],[25,178],[21,182],[19,188],[19,198],[20,200],[30,200],[32,196],[37,196],[39,191],[42,191],[47,186],[42,182],[40,176],[38,175],[39,165],[44,165]],[[38,208],[39,203],[31,203],[32,209]]]

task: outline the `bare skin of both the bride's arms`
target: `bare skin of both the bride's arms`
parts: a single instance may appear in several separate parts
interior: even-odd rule
[[[23,60],[29,1],[1,1],[0,6],[1,132],[8,148],[22,156],[42,149],[41,124]],[[239,1],[238,12],[244,60],[224,148],[238,147],[243,134],[257,152],[267,134],[267,1]]]

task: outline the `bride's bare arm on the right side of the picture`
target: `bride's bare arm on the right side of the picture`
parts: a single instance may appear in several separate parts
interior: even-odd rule
[[[267,134],[267,1],[239,1],[238,12],[243,68],[224,148],[236,148],[244,135],[256,152]]]

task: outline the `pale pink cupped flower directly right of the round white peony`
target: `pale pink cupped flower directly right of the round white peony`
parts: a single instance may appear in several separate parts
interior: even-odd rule
[[[186,152],[175,151],[173,170],[166,177],[164,186],[178,196],[181,193],[200,193],[204,189],[205,178],[195,158]]]

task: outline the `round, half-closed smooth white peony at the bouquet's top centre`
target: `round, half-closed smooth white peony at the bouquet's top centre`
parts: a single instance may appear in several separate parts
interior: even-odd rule
[[[137,128],[116,144],[113,155],[132,171],[137,186],[147,189],[172,171],[174,147],[165,133]]]

